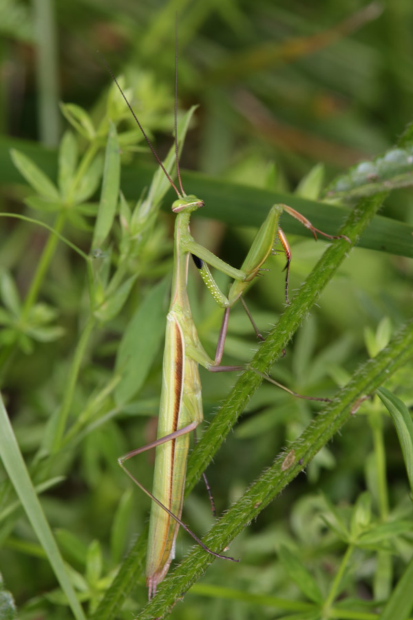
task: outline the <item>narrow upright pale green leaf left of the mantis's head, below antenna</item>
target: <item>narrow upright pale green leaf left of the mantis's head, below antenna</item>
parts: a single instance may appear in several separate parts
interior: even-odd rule
[[[118,136],[114,123],[110,123],[109,136],[107,137],[105,167],[103,169],[102,192],[98,217],[94,228],[92,248],[100,247],[114,221],[116,206],[118,204],[120,183],[120,152]]]

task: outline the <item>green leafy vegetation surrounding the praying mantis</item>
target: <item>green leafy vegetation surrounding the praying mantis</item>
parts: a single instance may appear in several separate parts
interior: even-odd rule
[[[176,12],[179,107],[200,104],[182,167],[187,192],[206,200],[204,217],[193,224],[202,245],[240,265],[257,225],[280,201],[333,234],[357,204],[346,227],[352,242],[382,203],[387,219],[375,216],[351,252],[346,242],[332,245],[313,271],[325,242],[302,236],[283,216],[293,249],[291,298],[310,276],[283,313],[284,258],[268,261],[270,271],[248,293],[248,306],[264,333],[281,315],[277,330],[259,346],[237,309],[226,361],[249,362],[260,349],[254,363],[268,371],[285,348],[272,368],[277,380],[299,393],[343,391],[317,415],[320,404],[263,384],[246,406],[229,411],[227,427],[242,417],[208,468],[218,514],[278,460],[251,491],[261,493],[259,500],[244,496],[216,533],[225,544],[242,530],[231,544],[240,564],[215,561],[171,617],[407,618],[413,603],[413,433],[405,409],[413,387],[406,324],[411,128],[399,136],[412,121],[408,0],[1,3],[0,378],[13,431],[3,409],[0,617],[14,614],[7,591],[21,619],[130,618],[147,599],[145,542],[134,541],[145,537],[149,501],[131,488],[116,459],[155,433],[173,194],[165,197],[167,184],[156,180],[149,202],[136,207],[156,165],[102,59],[123,76],[140,122],[166,156]],[[188,117],[180,118],[183,127]],[[386,158],[395,144],[397,157]],[[363,174],[348,173],[370,158],[379,159]],[[329,185],[337,175],[343,195],[323,194],[328,186],[337,189]],[[119,183],[124,198],[118,200]],[[337,204],[317,204],[319,196]],[[189,290],[200,337],[212,353],[220,312],[193,272]],[[256,387],[257,375],[250,375],[235,389],[240,402],[242,390],[250,395]],[[389,380],[380,398],[359,402],[384,375]],[[226,395],[235,380],[202,373],[210,426],[191,457],[189,486],[228,431],[215,414],[220,404],[225,415],[231,409]],[[146,486],[152,463],[142,455],[134,464]],[[280,490],[257,516],[258,503],[263,507]],[[197,533],[213,522],[201,484],[187,497],[184,519]],[[189,546],[180,533],[178,561]],[[202,552],[191,557],[141,617],[165,613],[204,571],[209,560]]]

